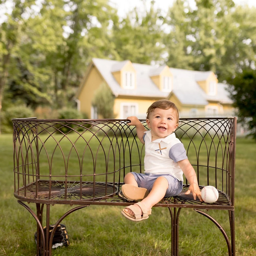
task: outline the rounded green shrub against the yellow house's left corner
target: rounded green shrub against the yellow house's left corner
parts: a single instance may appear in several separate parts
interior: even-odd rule
[[[103,118],[112,119],[114,118],[114,99],[110,88],[102,83],[95,92],[92,105],[97,108],[98,114],[102,115]]]

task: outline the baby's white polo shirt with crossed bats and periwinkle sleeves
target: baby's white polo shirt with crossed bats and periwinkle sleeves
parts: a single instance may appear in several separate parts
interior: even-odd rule
[[[188,157],[184,145],[176,138],[175,133],[152,142],[151,131],[146,131],[143,140],[145,141],[145,173],[170,174],[183,181],[183,172],[177,162]]]

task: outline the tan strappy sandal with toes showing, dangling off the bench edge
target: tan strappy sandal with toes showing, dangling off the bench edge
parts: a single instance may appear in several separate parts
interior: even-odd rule
[[[135,207],[134,205],[129,205],[127,207],[125,207],[121,213],[122,215],[132,221],[141,221],[141,220],[146,220],[148,219],[148,215],[151,214],[151,209],[146,209],[145,206],[142,204],[142,202],[137,202],[135,205],[138,205],[141,208],[142,211],[142,215],[141,215],[141,211],[140,209],[138,209],[137,207]],[[129,214],[128,212],[125,211],[125,209],[128,208],[130,210],[133,211],[134,216]]]

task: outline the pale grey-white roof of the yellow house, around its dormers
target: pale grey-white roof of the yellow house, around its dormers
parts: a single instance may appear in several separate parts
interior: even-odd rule
[[[93,58],[92,61],[115,96],[125,95],[167,98],[169,95],[169,92],[159,90],[150,78],[150,76],[154,74],[159,74],[165,66],[154,68],[151,65],[132,63],[136,70],[136,89],[131,90],[123,89],[111,73],[121,70],[127,63],[127,60],[115,61]],[[193,71],[177,68],[170,68],[170,71],[173,74],[172,92],[182,104],[207,105],[208,100],[232,103],[228,97],[228,92],[225,90],[225,84],[218,83],[218,94],[215,96],[207,95],[198,85],[197,81],[206,80],[211,71]]]

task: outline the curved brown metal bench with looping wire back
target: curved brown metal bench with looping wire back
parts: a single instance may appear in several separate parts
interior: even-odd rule
[[[147,128],[145,120],[140,120]],[[172,250],[178,255],[179,215],[191,208],[209,218],[223,234],[228,254],[235,255],[234,174],[236,118],[180,119],[176,136],[183,142],[199,187],[215,186],[219,198],[207,204],[185,195],[164,198],[155,207],[167,207],[171,217]],[[143,172],[144,145],[127,120],[13,119],[14,196],[37,222],[37,255],[51,256],[58,224],[70,213],[89,205],[127,206],[121,193],[127,172]],[[34,212],[25,202],[35,203]],[[50,207],[71,208],[49,232]],[[43,207],[46,205],[46,233]],[[203,210],[227,210],[230,233]]]

